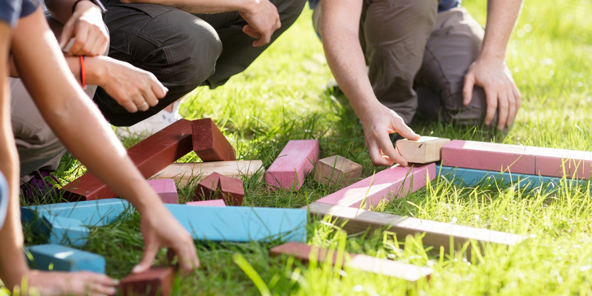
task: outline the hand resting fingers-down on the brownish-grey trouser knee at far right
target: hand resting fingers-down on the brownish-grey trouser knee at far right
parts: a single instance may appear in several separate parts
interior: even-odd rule
[[[469,105],[473,96],[473,87],[478,85],[485,89],[487,99],[487,115],[485,124],[489,125],[498,112],[498,129],[504,129],[514,123],[520,109],[520,92],[505,61],[498,59],[477,59],[469,67],[465,75],[463,88],[463,104]]]

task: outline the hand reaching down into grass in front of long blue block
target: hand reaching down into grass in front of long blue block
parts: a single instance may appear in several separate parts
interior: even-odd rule
[[[132,273],[147,271],[160,248],[169,248],[176,253],[184,275],[200,267],[193,238],[167,208],[161,204],[158,207],[150,207],[140,215],[140,231],[144,236],[145,249],[142,261],[131,270]]]

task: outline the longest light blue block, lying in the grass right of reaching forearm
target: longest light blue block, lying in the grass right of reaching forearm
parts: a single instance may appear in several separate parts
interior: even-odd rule
[[[195,240],[249,242],[281,239],[306,240],[306,210],[249,207],[165,207]]]

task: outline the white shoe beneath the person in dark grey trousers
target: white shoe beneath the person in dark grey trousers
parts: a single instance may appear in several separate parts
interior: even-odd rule
[[[157,114],[154,114],[131,127],[117,127],[116,134],[120,138],[151,136],[157,131],[164,129],[181,119],[181,116],[179,115],[180,105],[181,102],[179,100],[173,103],[173,112],[167,112],[163,109]]]

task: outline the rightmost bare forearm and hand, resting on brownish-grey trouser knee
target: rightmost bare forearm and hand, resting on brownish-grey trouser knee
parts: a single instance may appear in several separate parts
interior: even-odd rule
[[[520,92],[507,68],[505,56],[521,5],[522,0],[487,1],[487,27],[483,47],[465,76],[463,103],[468,105],[471,102],[474,85],[483,87],[487,97],[485,124],[491,123],[496,109],[499,108],[499,129],[512,125],[520,108]]]

